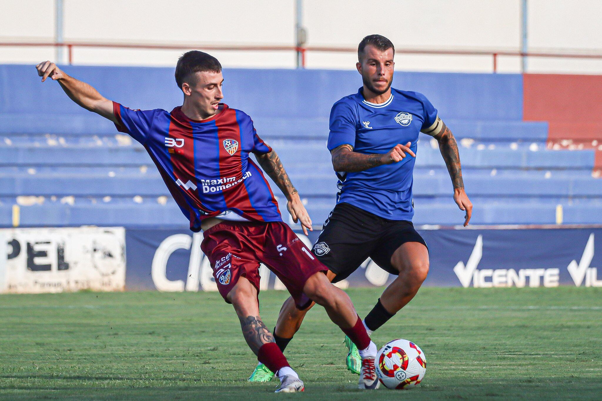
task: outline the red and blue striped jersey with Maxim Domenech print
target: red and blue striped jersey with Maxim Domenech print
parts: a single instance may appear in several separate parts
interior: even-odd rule
[[[113,102],[115,126],[146,148],[190,230],[232,211],[250,221],[282,221],[278,203],[250,153],[270,153],[249,115],[220,103],[218,114],[191,120],[176,107],[131,110]]]

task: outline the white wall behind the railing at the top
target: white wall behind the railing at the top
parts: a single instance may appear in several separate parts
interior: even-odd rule
[[[304,0],[308,46],[356,47],[367,34],[398,49],[518,51],[520,0]],[[2,0],[0,41],[54,40],[54,0]],[[529,0],[529,50],[602,54],[602,0]],[[294,0],[64,0],[64,39],[86,42],[294,43]],[[182,51],[76,47],[76,64],[173,66]],[[294,67],[293,52],[213,51],[226,67]],[[50,47],[2,47],[0,63],[54,60]],[[310,68],[353,69],[353,53],[308,52]],[[602,60],[530,58],[530,72],[602,73]],[[406,55],[397,69],[491,72],[489,56]],[[518,72],[500,57],[500,72]]]

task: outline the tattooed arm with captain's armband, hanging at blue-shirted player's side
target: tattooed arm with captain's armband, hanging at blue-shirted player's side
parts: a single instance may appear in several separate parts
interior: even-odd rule
[[[454,189],[453,198],[461,210],[465,210],[464,227],[468,225],[471,215],[473,214],[473,204],[468,195],[464,191],[464,180],[462,180],[462,166],[460,164],[460,154],[458,153],[458,143],[454,138],[452,131],[445,125],[441,118],[437,117],[435,123],[423,131],[426,135],[430,135],[439,142],[439,150],[441,156],[447,166],[447,171],[452,178]]]

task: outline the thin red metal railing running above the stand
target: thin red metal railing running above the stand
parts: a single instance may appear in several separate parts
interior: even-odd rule
[[[323,46],[249,46],[249,45],[223,45],[223,44],[147,44],[147,43],[95,43],[95,42],[0,42],[0,46],[16,47],[65,47],[67,60],[73,64],[74,47],[105,47],[113,49],[155,49],[155,50],[186,50],[199,49],[207,51],[291,51],[301,55],[301,66],[305,68],[307,52],[338,52],[355,53],[356,47],[323,47]],[[397,54],[420,55],[464,55],[464,56],[490,56],[492,57],[493,72],[497,72],[497,61],[500,56],[510,57],[544,57],[544,58],[576,58],[602,60],[602,54],[579,53],[553,53],[553,52],[514,52],[514,51],[485,51],[485,50],[429,50],[429,49],[395,49]]]

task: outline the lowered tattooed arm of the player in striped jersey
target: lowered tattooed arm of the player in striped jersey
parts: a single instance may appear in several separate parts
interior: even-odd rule
[[[288,212],[291,213],[294,222],[301,223],[303,233],[307,235],[308,228],[310,231],[313,230],[311,227],[311,218],[309,218],[309,214],[301,202],[299,192],[293,186],[287,171],[284,170],[278,154],[276,154],[275,150],[272,150],[270,153],[255,154],[255,157],[261,168],[265,171],[265,174],[270,176],[284,196],[287,197]]]

